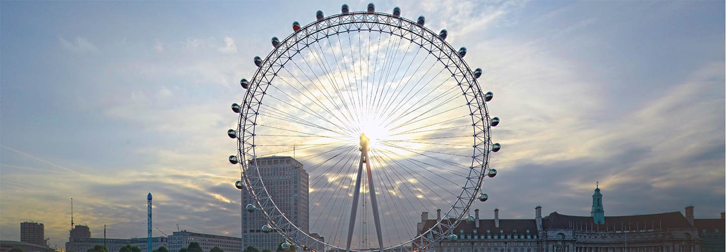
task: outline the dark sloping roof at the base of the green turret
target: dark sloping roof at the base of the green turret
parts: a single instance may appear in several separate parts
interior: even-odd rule
[[[552,212],[542,218],[544,229],[588,229],[588,230],[648,230],[666,228],[693,228],[688,219],[679,212],[642,214],[629,216],[605,216],[605,224],[595,224],[592,216],[569,216]]]

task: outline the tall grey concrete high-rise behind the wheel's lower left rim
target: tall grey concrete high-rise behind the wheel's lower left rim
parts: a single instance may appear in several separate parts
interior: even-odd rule
[[[262,181],[274,200],[290,221],[304,232],[309,232],[309,182],[303,164],[291,157],[272,156],[257,158]],[[243,189],[244,190],[244,189]],[[242,206],[256,205],[247,192],[242,193]],[[284,241],[277,232],[268,234],[261,231],[267,220],[259,211],[242,214],[242,244],[253,245],[263,250],[274,251]]]

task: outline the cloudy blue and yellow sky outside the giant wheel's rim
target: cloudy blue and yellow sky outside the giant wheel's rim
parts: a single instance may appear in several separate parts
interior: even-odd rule
[[[145,237],[147,192],[167,234],[239,236],[237,145],[224,134],[239,80],[272,36],[340,4],[0,2],[1,240],[38,221],[64,248],[70,198],[92,237],[104,224],[108,237]],[[722,1],[375,4],[446,28],[483,69],[502,118],[499,174],[472,206],[483,218],[588,216],[595,182],[607,216],[725,211]]]

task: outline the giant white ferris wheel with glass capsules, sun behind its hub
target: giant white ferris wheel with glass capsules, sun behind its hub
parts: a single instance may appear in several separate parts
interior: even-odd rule
[[[481,68],[471,70],[465,47],[454,49],[448,31],[435,33],[416,21],[375,12],[316,13],[308,25],[272,38],[272,52],[242,78],[237,129],[238,189],[266,219],[262,232],[279,232],[282,248],[303,251],[433,251],[457,240],[469,208],[489,196],[481,190],[492,142]],[[309,227],[298,227],[274,198],[262,160],[290,156],[309,176]],[[365,174],[364,174],[365,173]],[[266,185],[267,183],[267,185]],[[436,223],[422,212],[441,209]],[[428,219],[428,218],[427,218]],[[308,230],[325,237],[325,242]]]

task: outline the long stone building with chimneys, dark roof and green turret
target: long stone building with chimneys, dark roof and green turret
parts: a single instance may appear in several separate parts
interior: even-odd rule
[[[433,249],[439,252],[725,251],[723,218],[694,219],[693,206],[685,208],[685,215],[674,211],[605,216],[599,188],[592,197],[590,216],[555,211],[543,217],[542,207],[537,206],[534,219],[499,219],[498,209],[494,210],[494,219],[479,219],[477,209],[474,221],[461,221],[455,227],[456,239],[444,239]],[[433,227],[437,221],[441,221],[440,210],[436,219],[428,219],[428,213],[422,213],[417,233]]]

